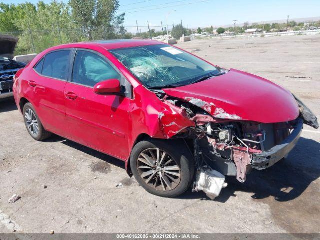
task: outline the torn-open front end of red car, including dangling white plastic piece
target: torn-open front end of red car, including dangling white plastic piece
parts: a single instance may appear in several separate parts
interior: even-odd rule
[[[196,191],[203,188],[201,185],[212,187],[208,182],[217,182],[214,180],[216,178],[209,175],[213,169],[223,176],[235,176],[239,182],[244,182],[252,169],[265,169],[288,155],[300,136],[303,122],[318,127],[316,117],[308,108],[302,106],[303,103],[297,98],[300,106],[300,116],[297,119],[279,123],[259,123],[243,121],[221,109],[218,112],[215,109],[215,113],[220,114],[221,118],[214,117],[208,113],[211,111],[209,108],[214,107],[213,104],[196,98],[176,99],[160,90],[154,92],[164,103],[182,109],[187,118],[195,122],[194,127],[187,127],[172,138],[184,138],[190,150],[194,152],[198,169],[196,178],[202,178],[194,182]],[[205,172],[211,173],[200,177]],[[207,182],[203,183],[203,179],[207,179]],[[219,193],[221,188],[225,187],[223,182],[220,181],[219,186],[215,186],[214,192]],[[208,188],[203,191],[208,191]],[[208,192],[207,195],[216,196],[214,192]]]

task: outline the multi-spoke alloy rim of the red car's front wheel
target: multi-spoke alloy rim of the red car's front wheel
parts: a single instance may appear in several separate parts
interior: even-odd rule
[[[173,157],[159,148],[142,151],[137,159],[140,177],[158,191],[173,190],[181,180],[181,170]]]

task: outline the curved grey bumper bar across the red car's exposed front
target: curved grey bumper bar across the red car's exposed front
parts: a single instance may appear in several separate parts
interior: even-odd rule
[[[302,128],[303,119],[298,118],[293,131],[282,141],[281,144],[276,145],[267,151],[252,154],[252,167],[258,170],[263,170],[285,158],[298,142]]]

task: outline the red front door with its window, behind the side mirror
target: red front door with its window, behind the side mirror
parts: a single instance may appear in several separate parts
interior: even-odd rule
[[[119,79],[122,87],[127,80],[102,54],[77,49],[73,70],[66,83],[65,110],[72,140],[126,159],[128,149],[128,124],[130,87],[125,96],[99,95],[93,86],[103,80]]]

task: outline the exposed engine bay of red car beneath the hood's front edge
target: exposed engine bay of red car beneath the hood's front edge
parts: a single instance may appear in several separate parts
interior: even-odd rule
[[[252,168],[237,165],[249,163],[253,153],[269,150],[289,135],[293,123],[263,124],[219,120],[206,111],[188,102],[167,98],[166,101],[184,109],[190,119],[196,122],[194,128],[188,129],[194,141],[194,151],[199,165],[207,165],[223,175],[236,176],[240,182],[245,181],[246,173]],[[202,159],[200,159],[202,158]],[[242,169],[241,169],[242,168]],[[240,171],[241,174],[237,174]]]

